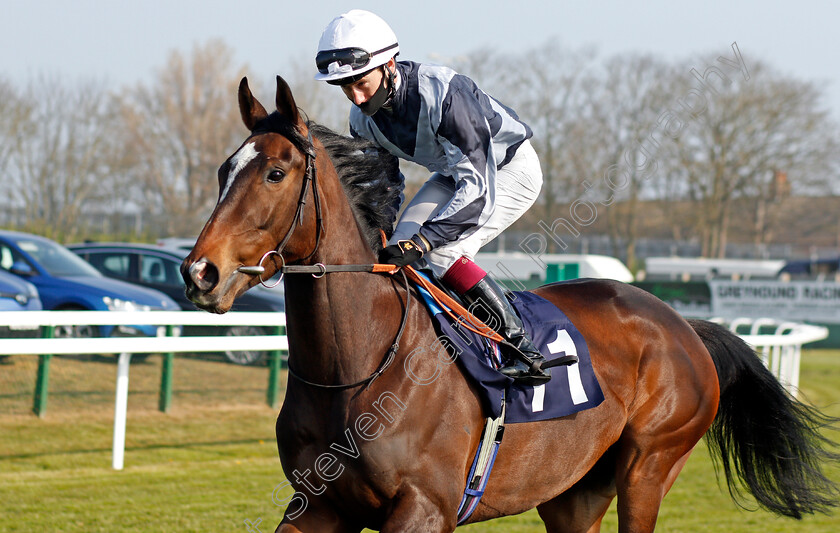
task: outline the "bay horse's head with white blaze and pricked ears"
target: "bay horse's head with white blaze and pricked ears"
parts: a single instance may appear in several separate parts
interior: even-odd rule
[[[218,203],[181,265],[187,296],[202,309],[228,311],[260,277],[275,274],[283,258],[299,260],[316,245],[319,222],[311,204],[318,199],[308,195],[309,209],[300,202],[315,172],[314,147],[280,76],[276,105],[268,114],[242,79],[239,111],[251,135],[219,167]],[[282,257],[270,252],[278,243]]]

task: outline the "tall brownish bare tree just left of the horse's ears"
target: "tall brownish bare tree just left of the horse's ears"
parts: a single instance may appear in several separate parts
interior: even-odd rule
[[[194,235],[215,204],[216,170],[247,134],[237,86],[247,71],[214,40],[190,56],[173,51],[151,84],[121,97],[134,182],[169,234]]]

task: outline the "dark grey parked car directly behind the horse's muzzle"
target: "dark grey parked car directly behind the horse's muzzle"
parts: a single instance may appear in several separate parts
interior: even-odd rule
[[[194,311],[195,305],[184,294],[184,280],[180,266],[192,246],[170,248],[149,244],[87,243],[71,244],[70,250],[93,265],[102,274],[157,289],[175,300],[181,309]],[[267,289],[253,287],[236,299],[232,311],[283,312],[286,302],[282,286]],[[218,328],[213,328],[218,332]],[[185,327],[184,335],[207,334],[206,327]],[[231,326],[222,328],[225,335],[267,335],[258,326]],[[228,361],[239,365],[253,365],[266,359],[267,353],[256,350],[229,350],[224,352]]]

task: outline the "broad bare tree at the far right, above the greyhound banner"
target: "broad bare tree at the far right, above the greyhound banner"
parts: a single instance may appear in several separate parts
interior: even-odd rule
[[[766,242],[773,211],[786,191],[827,190],[837,168],[837,134],[819,108],[819,90],[755,61],[726,69],[705,60],[704,77],[693,65],[696,114],[674,143],[669,173],[683,180],[697,209],[695,231],[704,256],[724,257],[735,200],[753,198],[757,242]],[[702,64],[702,63],[701,63]],[[699,85],[697,85],[699,83]]]

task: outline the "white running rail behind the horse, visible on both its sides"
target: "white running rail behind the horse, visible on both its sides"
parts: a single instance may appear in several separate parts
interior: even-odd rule
[[[106,312],[106,311],[27,311],[0,312],[0,326],[12,328],[40,328],[68,325],[152,325],[161,326],[158,337],[109,337],[109,338],[35,338],[5,339],[0,338],[0,355],[36,354],[42,358],[56,354],[100,354],[117,353],[117,387],[114,404],[114,469],[123,468],[125,453],[125,422],[128,401],[128,375],[131,354],[133,353],[178,353],[178,352],[217,352],[221,350],[272,350],[287,351],[288,341],[285,335],[254,335],[247,337],[179,337],[165,336],[167,326],[275,326],[285,325],[283,313],[228,313],[213,315],[204,312],[189,311],[151,311],[151,312]],[[721,319],[712,319],[723,323]],[[815,342],[828,336],[828,330],[821,326],[777,322],[772,319],[736,319],[729,323],[729,328],[738,333],[761,355],[765,365],[779,381],[796,395],[799,387],[799,362],[802,345]],[[749,333],[740,330],[749,328]],[[773,328],[772,334],[761,334],[762,330]],[[48,361],[48,359],[47,359]],[[279,359],[274,358],[271,366],[269,388],[276,384],[276,372]],[[165,371],[165,369],[164,369]],[[39,386],[41,367],[39,365]],[[44,384],[46,387],[46,385]],[[44,391],[46,394],[46,391]],[[36,393],[37,395],[37,393]],[[271,393],[269,392],[269,396]]]

